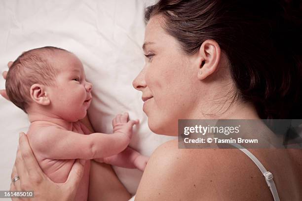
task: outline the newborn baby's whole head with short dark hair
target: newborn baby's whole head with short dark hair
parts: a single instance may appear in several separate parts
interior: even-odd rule
[[[91,83],[71,52],[41,47],[24,52],[8,70],[8,98],[26,113],[43,113],[70,122],[82,119],[91,102]]]

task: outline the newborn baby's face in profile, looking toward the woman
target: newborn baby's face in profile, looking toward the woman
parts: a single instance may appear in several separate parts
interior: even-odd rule
[[[56,86],[48,90],[52,112],[70,122],[83,119],[92,99],[92,84],[85,80],[82,63],[64,52],[54,57],[52,65],[59,69]]]

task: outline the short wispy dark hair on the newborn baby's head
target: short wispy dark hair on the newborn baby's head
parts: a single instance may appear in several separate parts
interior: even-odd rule
[[[25,113],[31,102],[33,84],[55,85],[58,70],[51,65],[50,57],[57,51],[67,50],[46,46],[23,52],[9,68],[5,82],[7,96]]]

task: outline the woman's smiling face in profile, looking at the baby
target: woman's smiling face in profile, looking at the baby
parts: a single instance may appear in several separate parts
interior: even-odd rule
[[[165,33],[162,18],[153,16],[146,27],[143,50],[146,64],[133,81],[142,91],[143,110],[156,134],[177,135],[178,119],[193,118],[197,104],[197,69],[177,40]],[[197,71],[196,71],[197,70]]]

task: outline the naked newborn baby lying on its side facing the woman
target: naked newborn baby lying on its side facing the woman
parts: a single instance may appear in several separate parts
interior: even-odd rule
[[[5,88],[9,99],[28,114],[30,145],[40,167],[54,182],[67,180],[76,159],[141,170],[146,167],[148,158],[127,147],[138,120],[128,121],[127,113],[117,115],[113,134],[91,134],[78,121],[86,116],[92,84],[86,81],[83,65],[73,53],[56,47],[24,52],[9,68]],[[76,201],[87,200],[89,169],[87,161]]]

